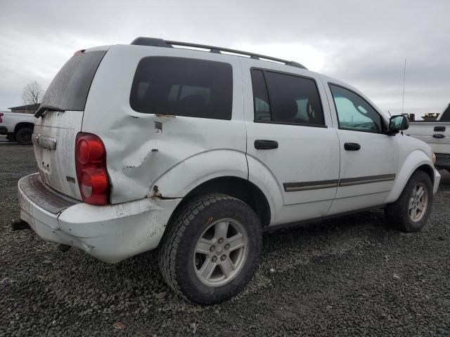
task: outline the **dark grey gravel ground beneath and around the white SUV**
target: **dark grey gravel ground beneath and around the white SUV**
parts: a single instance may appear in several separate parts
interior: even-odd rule
[[[0,142],[0,336],[450,336],[446,172],[422,232],[371,211],[266,233],[245,291],[200,306],[167,288],[154,252],[108,265],[11,232],[34,171],[32,147]]]

